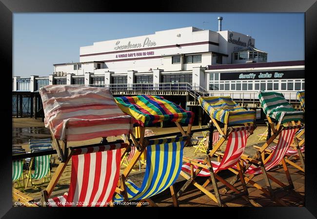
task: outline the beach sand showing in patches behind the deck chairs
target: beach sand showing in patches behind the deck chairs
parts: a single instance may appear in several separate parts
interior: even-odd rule
[[[26,128],[26,127],[44,127],[44,122],[41,121],[41,119],[34,119],[34,118],[13,118],[13,128]],[[192,130],[195,129],[199,129],[199,126],[193,126]],[[247,155],[254,155],[256,150],[252,147],[252,145],[262,145],[265,141],[261,140],[258,141],[259,137],[258,134],[262,134],[265,130],[266,130],[266,126],[258,126],[257,129],[254,131],[254,134],[251,135],[248,138],[247,141],[247,146],[245,149],[245,154]],[[160,134],[167,134],[167,133],[173,133],[173,132],[178,132],[178,128],[177,127],[171,127],[171,128],[160,128],[160,127],[149,127],[148,129],[153,130],[153,132],[156,135],[160,135]],[[184,129],[186,130],[187,127],[184,127]],[[39,138],[49,138],[49,135],[45,135],[45,134],[26,134],[27,136],[35,136],[35,137],[39,137]],[[193,138],[196,139],[196,137],[198,136],[202,136],[201,132],[198,133],[194,133]],[[14,136],[13,136],[14,138]],[[115,137],[110,137],[108,138],[108,140],[115,140]],[[119,137],[118,137],[119,139]],[[91,139],[91,140],[86,140],[86,141],[74,141],[74,142],[69,142],[68,145],[69,146],[79,146],[79,145],[87,145],[87,144],[95,144],[95,143],[99,143],[101,140],[101,138],[98,139]],[[196,140],[195,140],[196,142]],[[29,146],[28,143],[23,143],[21,144],[23,148],[26,149],[26,151],[29,151]],[[220,150],[224,150],[224,147],[226,145],[226,142],[220,147]],[[201,152],[197,152],[194,154],[194,151],[196,150],[196,148],[194,147],[185,147],[184,151],[183,151],[183,156],[185,157],[189,157],[189,158],[203,158],[206,154],[205,153],[201,153]],[[59,163],[59,159],[57,155],[52,155],[52,158],[56,158],[55,159],[55,164],[52,164],[52,169],[51,169],[51,175],[53,176],[55,173],[55,170],[58,166]],[[120,172],[123,173],[125,166],[121,165],[120,168]],[[145,170],[145,165],[141,166],[141,172],[144,172]],[[24,174],[27,174],[28,171],[24,170]],[[139,173],[139,163],[137,163],[134,167],[134,171],[131,172],[131,176],[133,176],[134,174]],[[56,187],[54,188],[54,191],[51,195],[51,197],[54,197],[56,195],[61,195],[64,192],[67,192],[68,188],[69,188],[69,183],[70,183],[70,174],[71,174],[71,161],[67,164],[63,174],[61,175]],[[141,181],[142,179],[140,179]],[[24,178],[24,181],[26,183],[26,178]],[[43,179],[40,180],[34,180],[33,181],[35,184],[38,183],[42,183]],[[42,183],[41,185],[37,186],[36,188],[31,187],[30,183],[29,186],[24,189],[25,194],[27,194],[28,196],[34,198],[35,200],[40,199],[40,191],[44,190],[47,185],[48,185],[49,180],[46,180],[45,183]],[[16,184],[14,183],[13,186],[16,186]]]

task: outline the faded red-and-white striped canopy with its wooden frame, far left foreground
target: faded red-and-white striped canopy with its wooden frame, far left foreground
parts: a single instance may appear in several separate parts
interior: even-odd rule
[[[45,114],[45,127],[50,129],[53,143],[56,146],[59,159],[61,159],[47,188],[41,191],[42,199],[46,200],[50,198],[61,174],[71,159],[71,152],[74,150],[67,147],[69,141],[76,141],[77,147],[94,148],[95,146],[104,146],[102,143],[87,145],[83,141],[103,139],[106,142],[107,137],[122,134],[130,135],[134,119],[120,110],[109,89],[80,85],[47,85],[40,88],[40,95]],[[95,155],[95,153],[92,154],[92,156]],[[99,159],[99,157],[96,158]],[[104,161],[110,162],[111,160]],[[88,162],[85,162],[85,164],[88,164]],[[91,164],[93,165],[93,162]],[[101,163],[101,165],[104,164]],[[79,165],[79,168],[84,168],[84,166]],[[93,174],[93,172],[89,173]],[[101,174],[104,174],[104,172]],[[112,182],[114,179],[111,177],[107,182],[118,183],[118,180]],[[88,184],[84,181],[81,185],[86,186]],[[93,188],[92,192],[101,191],[103,193],[107,191],[106,195],[109,195],[107,183],[100,185],[97,183],[95,186],[90,187],[90,189]],[[75,190],[76,194],[77,191]],[[118,190],[118,192],[121,192],[121,190]]]

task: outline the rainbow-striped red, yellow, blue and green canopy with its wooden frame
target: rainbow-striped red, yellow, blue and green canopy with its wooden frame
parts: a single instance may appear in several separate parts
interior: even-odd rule
[[[162,97],[149,95],[118,97],[116,98],[116,102],[120,109],[136,119],[136,125],[140,126],[139,140],[137,140],[133,134],[130,134],[130,137],[133,143],[137,146],[138,150],[129,162],[128,167],[124,170],[124,178],[126,178],[130,174],[132,168],[139,160],[141,154],[147,151],[146,148],[148,144],[144,142],[145,127],[161,121],[173,121],[176,123],[181,135],[184,137],[187,136],[188,139],[190,138],[190,132],[194,120],[194,113],[182,109],[178,104],[174,102],[166,100]],[[186,132],[184,131],[180,123],[188,124]],[[185,144],[187,143],[188,141],[185,142]],[[174,191],[172,192],[172,194],[174,194]],[[149,201],[150,199],[147,198],[147,200]],[[151,203],[154,205],[154,202]],[[176,202],[174,202],[174,204],[177,205]]]

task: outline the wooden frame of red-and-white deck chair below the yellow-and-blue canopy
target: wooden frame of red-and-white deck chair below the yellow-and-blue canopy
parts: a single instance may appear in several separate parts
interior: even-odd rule
[[[233,199],[237,199],[239,197],[242,197],[243,199],[246,199],[248,201],[250,201],[250,203],[252,203],[254,206],[260,206],[257,202],[255,202],[254,200],[252,199],[249,199],[247,197],[248,195],[248,191],[247,191],[247,187],[246,187],[246,184],[244,182],[244,178],[243,178],[243,175],[242,175],[242,166],[241,166],[241,162],[240,162],[240,158],[238,158],[236,161],[236,165],[238,167],[238,171],[236,171],[236,173],[239,175],[240,177],[240,180],[241,180],[241,183],[242,183],[242,187],[243,187],[243,191],[239,191],[236,187],[234,187],[233,185],[231,185],[228,181],[226,181],[225,179],[221,178],[217,173],[218,171],[221,171],[221,170],[216,170],[217,172],[214,172],[214,169],[213,169],[213,162],[211,160],[211,158],[213,156],[223,156],[224,154],[221,154],[221,153],[218,153],[218,149],[220,148],[220,146],[223,144],[223,142],[228,139],[229,137],[232,137],[231,134],[232,133],[235,133],[237,132],[238,130],[244,130],[244,131],[247,131],[247,134],[245,136],[245,138],[247,139],[250,135],[253,134],[253,131],[254,129],[256,128],[256,126],[246,126],[246,127],[238,127],[238,128],[228,128],[226,130],[226,134],[225,136],[222,136],[222,138],[220,138],[218,140],[218,142],[215,144],[215,146],[213,147],[212,151],[209,152],[209,154],[207,154],[206,158],[204,160],[200,160],[198,161],[197,159],[190,159],[190,158],[183,158],[183,160],[187,161],[190,163],[190,176],[187,175],[184,171],[181,171],[180,172],[180,175],[182,177],[184,177],[185,179],[187,179],[186,183],[182,186],[182,188],[178,191],[177,193],[177,197],[180,197],[184,192],[185,190],[191,185],[193,184],[194,186],[196,186],[201,192],[203,192],[204,194],[206,194],[209,198],[211,198],[212,200],[214,200],[219,207],[221,206],[225,206],[226,202],[229,202]],[[245,142],[246,143],[246,142]],[[245,146],[245,145],[244,145]],[[229,146],[227,145],[228,147],[228,151],[229,151]],[[242,156],[243,154],[241,154],[240,156]],[[229,157],[228,157],[229,158]],[[218,160],[220,161],[220,160]],[[224,161],[225,163],[226,161]],[[221,161],[220,161],[220,165],[225,165],[225,164],[221,164]],[[197,168],[195,169],[194,166],[196,166]],[[218,168],[218,167],[217,167]],[[208,176],[208,179],[202,184],[198,184],[198,182],[195,180],[196,177],[199,176],[199,173],[203,170],[207,170],[209,172],[209,175]],[[228,169],[232,169],[229,168]],[[202,176],[202,175],[201,175]],[[207,176],[207,175],[205,175]],[[229,197],[227,199],[221,199],[220,198],[220,194],[219,194],[219,190],[218,190],[218,184],[217,184],[217,181],[216,179],[220,182],[222,182],[224,185],[228,186],[229,188],[231,188],[234,192],[236,192],[236,195],[232,196],[232,197]],[[212,182],[213,184],[213,188],[214,188],[214,192],[215,194],[213,194],[212,192],[208,191],[206,189],[207,185]]]

